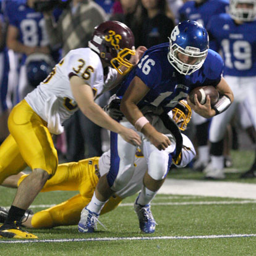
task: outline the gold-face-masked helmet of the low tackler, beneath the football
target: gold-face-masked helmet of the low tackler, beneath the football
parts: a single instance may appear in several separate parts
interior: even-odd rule
[[[173,112],[173,120],[176,122],[179,129],[186,130],[187,124],[191,119],[191,108],[187,104],[186,100],[180,100],[179,103],[172,109]]]

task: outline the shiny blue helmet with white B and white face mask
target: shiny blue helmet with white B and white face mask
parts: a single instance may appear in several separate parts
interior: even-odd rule
[[[198,22],[186,20],[174,27],[169,38],[168,60],[182,75],[190,75],[202,67],[207,58],[209,38],[207,30]],[[181,61],[181,54],[192,64]],[[178,56],[179,55],[179,56]]]

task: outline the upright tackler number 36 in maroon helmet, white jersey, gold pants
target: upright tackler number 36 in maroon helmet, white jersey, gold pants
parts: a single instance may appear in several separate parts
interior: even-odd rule
[[[8,121],[11,135],[0,147],[0,184],[26,165],[33,172],[20,184],[6,223],[0,227],[1,236],[36,238],[22,231],[19,222],[45,182],[56,172],[58,155],[51,135],[61,134],[62,122],[78,108],[98,126],[117,132],[133,145],[140,145],[140,137],[134,130],[114,121],[94,100],[119,82],[137,64],[143,51],[143,47],[134,51],[134,36],[126,25],[103,22],[95,28],[89,48],[70,51],[12,109]]]

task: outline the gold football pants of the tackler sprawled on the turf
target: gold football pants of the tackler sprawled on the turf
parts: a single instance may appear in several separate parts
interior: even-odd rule
[[[78,163],[59,164],[51,179],[49,179],[41,192],[54,190],[79,190],[80,194],[54,207],[39,211],[33,215],[34,228],[53,228],[54,226],[67,226],[78,224],[83,208],[90,202],[96,184],[98,183],[98,157],[81,160]],[[27,175],[20,177],[18,186]],[[121,203],[122,198],[111,197],[101,211],[107,213]]]

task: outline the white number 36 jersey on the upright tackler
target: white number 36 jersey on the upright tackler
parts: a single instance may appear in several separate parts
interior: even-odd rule
[[[25,97],[32,109],[48,122],[53,134],[60,134],[62,122],[78,109],[70,88],[72,74],[92,87],[95,97],[103,91],[105,81],[100,57],[90,48],[79,48],[69,51],[48,77]]]

